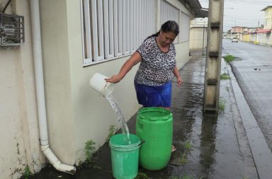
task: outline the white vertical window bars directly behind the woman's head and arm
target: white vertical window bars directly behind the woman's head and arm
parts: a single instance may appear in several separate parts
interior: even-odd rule
[[[156,0],[81,0],[84,66],[132,54],[156,31]]]

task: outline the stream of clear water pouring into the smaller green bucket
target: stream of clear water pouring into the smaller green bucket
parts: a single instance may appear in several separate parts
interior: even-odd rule
[[[105,98],[111,104],[111,107],[113,108],[113,110],[115,111],[115,113],[117,115],[117,120],[121,125],[122,134],[125,134],[125,136],[126,136],[125,140],[128,142],[128,144],[131,144],[130,132],[128,130],[128,125],[125,123],[125,117],[124,117],[123,113],[121,112],[115,98],[113,98],[113,96],[111,94],[109,96],[105,96]]]

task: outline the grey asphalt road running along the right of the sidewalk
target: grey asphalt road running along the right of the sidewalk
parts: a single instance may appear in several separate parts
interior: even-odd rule
[[[222,56],[238,59],[231,67],[249,108],[272,150],[272,47],[223,40]]]

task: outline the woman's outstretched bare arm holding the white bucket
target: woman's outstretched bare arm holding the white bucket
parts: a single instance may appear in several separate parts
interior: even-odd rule
[[[118,83],[125,77],[128,71],[130,71],[130,69],[132,69],[132,67],[135,66],[135,64],[141,62],[141,60],[142,60],[142,57],[140,53],[134,52],[132,56],[125,62],[125,64],[123,64],[123,66],[121,67],[117,75],[113,75],[111,76],[110,79],[105,79],[105,80],[110,83]]]

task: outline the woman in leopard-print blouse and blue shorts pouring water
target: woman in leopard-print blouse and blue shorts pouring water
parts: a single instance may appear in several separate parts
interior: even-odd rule
[[[171,107],[171,79],[176,76],[177,83],[182,83],[176,68],[176,50],[173,44],[179,35],[179,25],[175,21],[164,23],[159,32],[147,37],[142,45],[132,54],[117,75],[107,82],[118,83],[125,74],[140,62],[135,75],[135,91],[138,103],[143,107]]]

